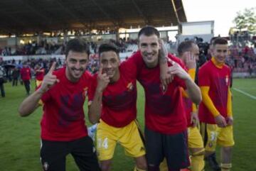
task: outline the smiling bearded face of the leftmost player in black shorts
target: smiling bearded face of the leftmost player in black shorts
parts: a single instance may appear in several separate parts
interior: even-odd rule
[[[78,53],[70,50],[65,59],[66,70],[65,74],[70,82],[78,82],[80,77],[86,70],[88,64],[87,53]]]

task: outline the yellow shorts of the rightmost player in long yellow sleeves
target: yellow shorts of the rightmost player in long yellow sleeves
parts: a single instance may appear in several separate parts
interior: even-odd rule
[[[201,123],[203,139],[206,140],[206,150],[215,151],[216,145],[231,147],[235,145],[233,126],[220,128],[216,124]],[[205,138],[207,137],[207,138]]]

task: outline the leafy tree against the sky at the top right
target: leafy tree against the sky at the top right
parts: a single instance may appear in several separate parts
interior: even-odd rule
[[[256,7],[251,9],[245,9],[242,13],[239,11],[234,21],[235,28],[240,31],[246,29],[252,35],[256,34]]]

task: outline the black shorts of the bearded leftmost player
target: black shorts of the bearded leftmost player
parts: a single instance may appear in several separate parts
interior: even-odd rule
[[[96,150],[88,136],[73,141],[42,140],[41,162],[45,171],[65,171],[65,157],[71,154],[81,171],[100,171]]]

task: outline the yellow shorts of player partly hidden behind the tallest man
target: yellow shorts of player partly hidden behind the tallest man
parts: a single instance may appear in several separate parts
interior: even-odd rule
[[[188,127],[188,148],[203,148],[203,138],[197,127]]]

